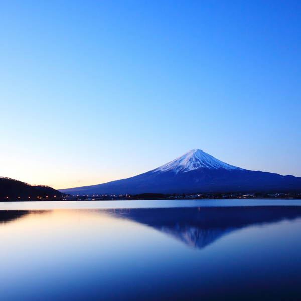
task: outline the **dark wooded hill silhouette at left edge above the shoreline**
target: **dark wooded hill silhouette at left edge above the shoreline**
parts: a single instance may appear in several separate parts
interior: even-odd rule
[[[0,177],[0,201],[55,200],[65,195],[49,186],[30,185],[15,179]]]

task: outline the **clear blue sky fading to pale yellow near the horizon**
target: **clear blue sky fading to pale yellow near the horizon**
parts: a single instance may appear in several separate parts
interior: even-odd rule
[[[301,176],[301,2],[14,1],[0,175],[99,184],[190,149]]]

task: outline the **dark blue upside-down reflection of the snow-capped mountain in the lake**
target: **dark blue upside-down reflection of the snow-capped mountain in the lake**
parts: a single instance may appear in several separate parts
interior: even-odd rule
[[[231,231],[301,217],[301,206],[117,209],[109,213],[204,248]]]

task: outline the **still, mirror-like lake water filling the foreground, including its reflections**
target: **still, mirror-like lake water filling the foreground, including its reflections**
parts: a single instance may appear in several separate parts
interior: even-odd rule
[[[300,300],[301,200],[0,203],[1,300]]]

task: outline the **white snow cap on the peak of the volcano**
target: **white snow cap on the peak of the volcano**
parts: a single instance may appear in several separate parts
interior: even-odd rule
[[[222,162],[203,152],[203,150],[193,149],[189,150],[189,152],[185,153],[181,157],[178,157],[177,159],[156,168],[153,172],[166,172],[173,170],[175,174],[177,174],[180,171],[189,172],[198,168],[224,168],[226,170],[243,170],[240,167]]]

